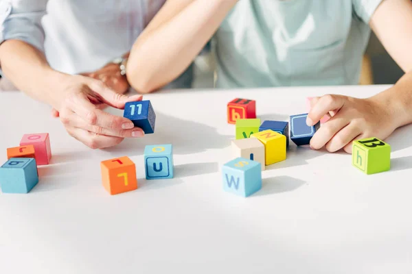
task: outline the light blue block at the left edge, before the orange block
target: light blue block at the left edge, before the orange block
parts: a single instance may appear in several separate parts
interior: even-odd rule
[[[3,193],[28,193],[38,183],[34,158],[10,158],[0,167]]]

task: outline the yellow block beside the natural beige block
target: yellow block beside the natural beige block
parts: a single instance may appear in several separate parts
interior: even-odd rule
[[[271,129],[252,134],[264,145],[266,166],[286,160],[286,136]]]

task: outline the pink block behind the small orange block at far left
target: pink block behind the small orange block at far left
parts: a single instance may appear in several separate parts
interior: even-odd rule
[[[24,134],[23,138],[21,138],[20,145],[34,146],[34,155],[38,166],[49,164],[50,159],[52,159],[48,133]]]

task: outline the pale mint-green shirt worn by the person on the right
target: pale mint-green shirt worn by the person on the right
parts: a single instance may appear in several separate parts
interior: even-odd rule
[[[358,84],[382,0],[240,0],[213,38],[217,88]]]

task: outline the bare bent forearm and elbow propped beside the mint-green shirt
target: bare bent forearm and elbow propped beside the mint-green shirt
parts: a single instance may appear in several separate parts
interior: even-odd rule
[[[150,92],[179,77],[236,2],[192,1],[159,27],[149,26],[130,53],[127,68],[130,84],[140,92]]]

